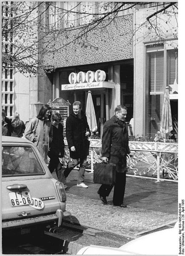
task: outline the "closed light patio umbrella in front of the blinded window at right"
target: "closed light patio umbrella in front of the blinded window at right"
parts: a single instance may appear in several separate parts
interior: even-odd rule
[[[171,118],[171,106],[170,106],[170,97],[169,97],[169,88],[165,89],[164,102],[162,107],[162,117],[161,117],[161,125],[160,131],[165,134],[170,133],[173,130],[172,118]]]

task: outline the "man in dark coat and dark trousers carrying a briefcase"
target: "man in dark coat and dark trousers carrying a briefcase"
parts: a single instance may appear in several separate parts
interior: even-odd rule
[[[128,146],[128,130],[125,123],[127,108],[118,105],[114,111],[115,115],[105,122],[102,135],[102,161],[116,164],[115,185],[100,186],[98,194],[104,204],[106,197],[114,186],[113,204],[119,207],[127,207],[123,204],[126,183],[126,155],[130,154]]]

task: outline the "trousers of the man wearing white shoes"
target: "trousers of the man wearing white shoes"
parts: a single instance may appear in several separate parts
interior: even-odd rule
[[[84,174],[85,174],[85,166],[87,163],[87,157],[80,158],[80,159],[73,159],[71,158],[71,162],[67,165],[66,169],[63,172],[64,177],[68,177],[72,169],[74,169],[75,166],[80,164],[79,170],[78,170],[78,181],[77,184],[84,182]]]

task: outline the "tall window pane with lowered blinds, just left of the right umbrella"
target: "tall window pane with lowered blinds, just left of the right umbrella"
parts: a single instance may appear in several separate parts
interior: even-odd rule
[[[145,134],[155,137],[160,131],[160,120],[162,116],[163,94],[164,94],[164,51],[161,46],[147,48],[146,64],[146,123]]]

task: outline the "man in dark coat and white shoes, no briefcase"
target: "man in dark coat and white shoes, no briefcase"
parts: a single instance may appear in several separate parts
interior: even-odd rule
[[[88,136],[91,135],[91,131],[88,126],[87,117],[81,108],[82,105],[80,101],[74,102],[73,112],[66,120],[66,138],[71,162],[63,172],[63,183],[66,184],[66,177],[68,177],[72,169],[80,163],[77,187],[88,188],[84,183],[84,174],[87,156],[89,154]]]

